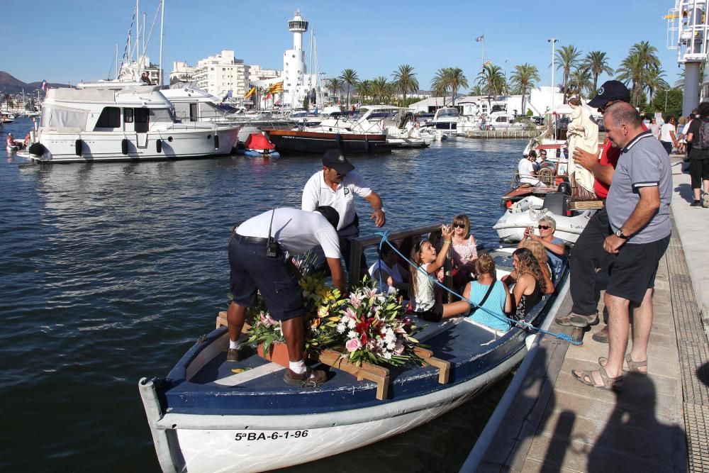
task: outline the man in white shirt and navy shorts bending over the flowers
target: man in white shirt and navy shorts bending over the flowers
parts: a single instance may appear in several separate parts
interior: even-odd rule
[[[289,369],[284,381],[306,387],[325,382],[327,374],[305,365],[305,333],[303,329],[303,295],[298,286],[298,270],[286,260],[320,246],[333,276],[333,284],[342,294],[347,280],[340,262],[340,243],[335,227],[340,216],[334,208],[321,206],[314,212],[297,208],[276,208],[242,223],[229,240],[230,286],[233,300],[227,311],[229,351],[227,361],[240,358],[241,329],[246,308],[256,304],[261,293],[271,317],[281,322],[288,355]]]

